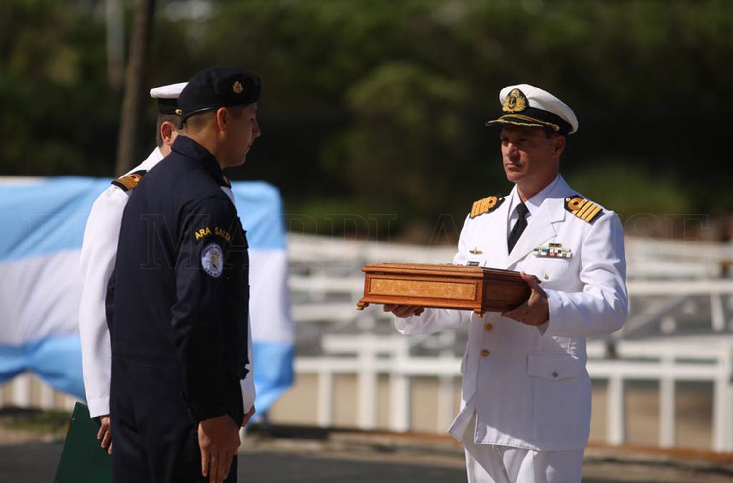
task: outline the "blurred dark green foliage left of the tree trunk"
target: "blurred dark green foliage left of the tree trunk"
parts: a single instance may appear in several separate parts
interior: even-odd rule
[[[119,106],[89,20],[65,2],[0,4],[1,174],[110,173]]]

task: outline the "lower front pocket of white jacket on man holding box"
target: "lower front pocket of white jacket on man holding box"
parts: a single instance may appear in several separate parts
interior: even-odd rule
[[[530,354],[532,437],[553,443],[584,440],[590,424],[590,382],[585,364],[567,354]]]

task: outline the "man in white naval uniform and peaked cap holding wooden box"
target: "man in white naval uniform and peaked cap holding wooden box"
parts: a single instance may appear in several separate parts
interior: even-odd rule
[[[520,271],[530,298],[483,317],[384,309],[403,334],[468,323],[461,409],[449,432],[463,440],[469,482],[580,482],[591,414],[586,337],[619,330],[628,311],[622,224],[559,174],[578,129],[572,109],[528,84],[505,87],[499,100],[501,116],[487,126],[501,129],[514,188],[474,203],[453,262]]]

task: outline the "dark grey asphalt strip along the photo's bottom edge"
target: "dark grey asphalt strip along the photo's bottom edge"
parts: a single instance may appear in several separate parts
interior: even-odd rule
[[[331,446],[331,445],[328,445]],[[320,441],[254,442],[240,454],[240,482],[405,483],[465,482],[463,458],[435,449],[394,450],[386,446],[334,449]],[[59,443],[0,446],[0,482],[51,482],[61,454]],[[726,465],[622,460],[590,451],[584,483],[733,482]]]

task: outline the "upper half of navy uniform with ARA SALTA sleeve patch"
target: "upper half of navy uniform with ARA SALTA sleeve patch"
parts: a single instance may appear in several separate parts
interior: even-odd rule
[[[248,363],[246,232],[223,185],[210,152],[179,136],[130,195],[112,282],[113,359],[178,366],[194,421],[232,414]]]

